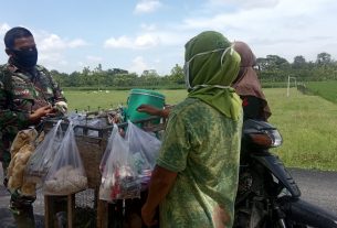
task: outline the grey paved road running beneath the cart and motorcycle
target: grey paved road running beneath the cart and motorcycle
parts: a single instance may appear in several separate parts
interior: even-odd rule
[[[0,166],[1,167],[1,166]],[[306,171],[291,169],[291,174],[299,185],[303,199],[313,203],[337,215],[337,172]],[[2,185],[2,169],[0,169],[0,227],[13,227],[11,214],[7,209],[9,195]],[[39,227],[43,227],[43,196],[38,194],[34,211]]]

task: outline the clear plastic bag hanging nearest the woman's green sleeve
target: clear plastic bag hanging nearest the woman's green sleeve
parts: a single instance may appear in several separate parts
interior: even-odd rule
[[[130,121],[128,121],[126,139],[129,142],[141,186],[146,188],[156,165],[161,141]]]

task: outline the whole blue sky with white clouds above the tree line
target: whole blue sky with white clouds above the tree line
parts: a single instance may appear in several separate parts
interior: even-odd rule
[[[336,0],[41,0],[2,1],[0,48],[12,26],[35,37],[39,63],[72,73],[103,69],[169,74],[185,43],[206,30],[246,42],[257,57],[337,58]],[[334,29],[335,28],[335,29]],[[0,63],[7,62],[4,52]]]

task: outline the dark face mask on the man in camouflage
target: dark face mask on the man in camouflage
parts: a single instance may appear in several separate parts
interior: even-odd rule
[[[36,47],[24,50],[11,50],[13,52],[13,64],[23,67],[31,68],[38,63],[38,50]]]

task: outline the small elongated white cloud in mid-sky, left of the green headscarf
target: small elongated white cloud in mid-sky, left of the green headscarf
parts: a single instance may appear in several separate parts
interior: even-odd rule
[[[135,39],[128,36],[110,37],[105,41],[106,48],[149,48],[159,44],[159,37],[150,33],[141,34]]]

